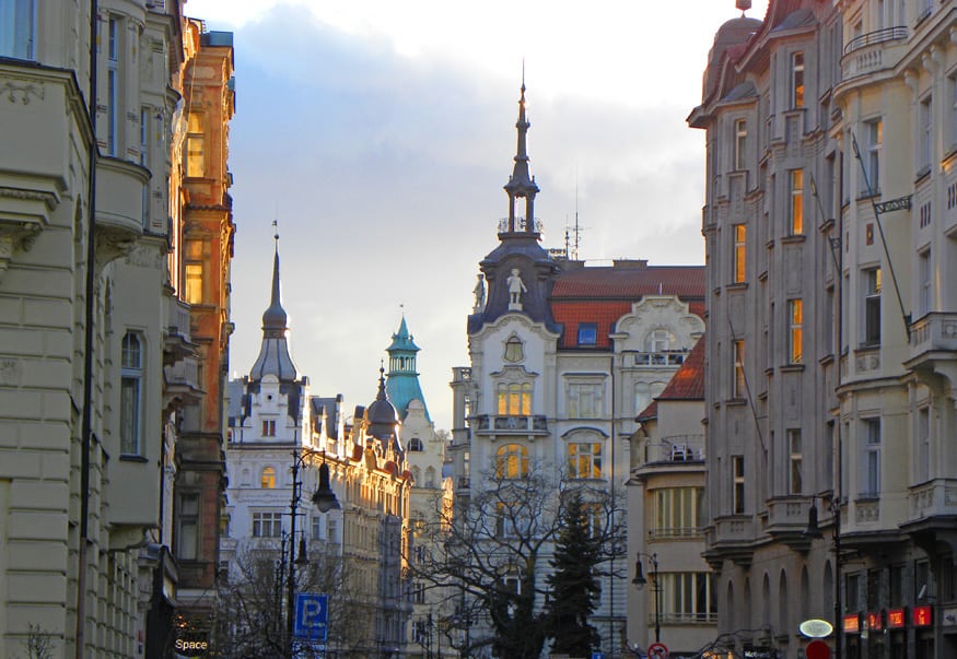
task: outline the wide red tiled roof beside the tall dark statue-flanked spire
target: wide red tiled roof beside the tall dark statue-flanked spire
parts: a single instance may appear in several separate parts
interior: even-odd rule
[[[615,322],[645,295],[677,295],[704,316],[704,267],[582,268],[562,273],[551,292],[551,314],[563,326],[559,348],[576,348],[579,325],[597,326],[595,348],[607,349]]]

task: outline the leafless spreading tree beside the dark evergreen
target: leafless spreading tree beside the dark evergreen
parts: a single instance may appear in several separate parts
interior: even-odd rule
[[[498,467],[478,482],[472,479],[470,496],[457,499],[452,511],[436,498],[434,518],[424,522],[410,569],[413,579],[430,588],[457,593],[455,614],[446,625],[468,627],[465,656],[485,646],[502,659],[532,659],[551,636],[542,576],[551,569],[548,557],[565,494],[579,492],[586,502],[593,532],[600,539],[602,565],[623,552],[625,515],[616,509],[623,497],[585,481],[551,476],[555,470],[541,466],[520,478],[506,478],[509,470]]]

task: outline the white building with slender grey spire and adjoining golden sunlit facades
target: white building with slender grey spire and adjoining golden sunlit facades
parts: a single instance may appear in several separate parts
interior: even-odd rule
[[[405,655],[412,472],[401,422],[387,398],[384,372],[375,400],[355,407],[351,423],[341,396],[311,395],[308,378],[289,352],[279,283],[277,251],[259,356],[248,376],[230,384],[227,532],[221,557],[235,597],[227,603],[222,643],[235,652],[284,656],[291,631],[288,596],[305,591],[328,597],[327,651]],[[337,499],[328,510],[312,505],[324,469]],[[281,591],[277,599],[269,595],[272,589]],[[253,623],[261,619],[273,626]]]

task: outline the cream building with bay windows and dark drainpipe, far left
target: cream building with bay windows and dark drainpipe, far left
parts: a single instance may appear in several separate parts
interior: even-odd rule
[[[200,31],[177,1],[91,7],[0,8],[0,656],[144,656],[198,389],[164,369],[195,351],[172,138]]]

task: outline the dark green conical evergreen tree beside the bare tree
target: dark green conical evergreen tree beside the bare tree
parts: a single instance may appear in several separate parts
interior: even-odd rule
[[[561,514],[561,531],[549,564],[551,587],[548,607],[551,651],[570,657],[591,657],[598,632],[588,624],[598,598],[597,565],[603,558],[602,539],[593,534],[588,510],[580,493],[573,493]]]

